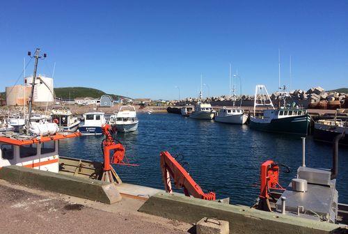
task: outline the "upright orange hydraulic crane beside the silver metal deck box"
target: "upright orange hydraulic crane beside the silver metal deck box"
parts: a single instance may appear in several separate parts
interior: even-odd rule
[[[288,169],[289,170],[289,169]],[[259,195],[259,210],[271,211],[269,198],[276,200],[272,194],[272,190],[285,190],[279,185],[279,166],[272,160],[267,160],[261,164],[260,173],[260,195]]]

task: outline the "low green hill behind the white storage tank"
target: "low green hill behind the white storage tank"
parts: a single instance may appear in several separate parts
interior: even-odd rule
[[[65,87],[65,88],[54,88],[54,93],[57,98],[100,98],[100,96],[107,94],[96,88],[86,88],[86,87]],[[109,94],[113,99],[120,97],[119,95]]]

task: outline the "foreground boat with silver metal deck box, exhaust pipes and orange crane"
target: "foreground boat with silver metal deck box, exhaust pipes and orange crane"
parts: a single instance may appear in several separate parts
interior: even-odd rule
[[[262,163],[260,170],[260,195],[253,208],[318,221],[318,224],[347,224],[347,204],[338,203],[336,178],[338,178],[338,141],[345,134],[333,139],[332,169],[306,166],[305,138],[302,143],[302,164],[290,184],[279,183],[280,166],[285,173],[290,168],[272,160]]]

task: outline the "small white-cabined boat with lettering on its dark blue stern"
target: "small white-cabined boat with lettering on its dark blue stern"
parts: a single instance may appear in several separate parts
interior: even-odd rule
[[[105,123],[104,112],[88,112],[84,114],[84,125],[79,127],[79,132],[83,135],[101,135]]]

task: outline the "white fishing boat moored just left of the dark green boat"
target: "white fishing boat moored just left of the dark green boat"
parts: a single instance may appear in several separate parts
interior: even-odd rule
[[[243,109],[239,107],[223,107],[220,109],[214,118],[216,122],[233,123],[243,125],[246,123],[248,115],[244,113]]]

